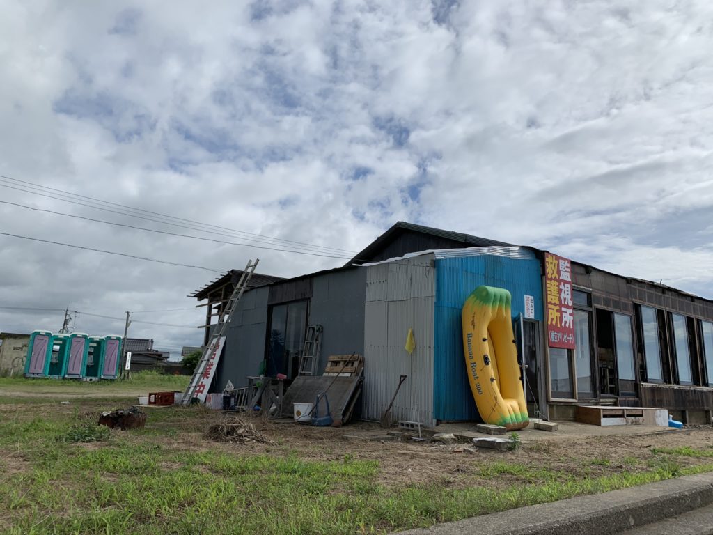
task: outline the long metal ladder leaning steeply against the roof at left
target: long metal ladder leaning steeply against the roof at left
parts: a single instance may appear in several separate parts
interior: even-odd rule
[[[257,267],[258,262],[260,262],[259,258],[256,258],[255,262],[252,260],[247,261],[245,270],[242,272],[242,275],[240,275],[240,280],[238,280],[230,298],[225,303],[225,307],[222,312],[220,312],[210,345],[205,348],[203,356],[195,367],[193,377],[191,377],[188,388],[185,389],[183,399],[181,399],[181,404],[188,405],[196,398],[201,402],[205,401],[207,389],[210,388],[210,382],[212,382],[213,374],[215,374],[215,367],[220,360],[220,352],[222,351],[221,338],[225,335],[225,330],[227,329],[227,324],[230,322],[232,311],[235,310],[237,302],[240,301],[240,297],[242,297],[243,292],[245,292],[247,285],[250,283],[250,279],[255,272],[255,267]]]

